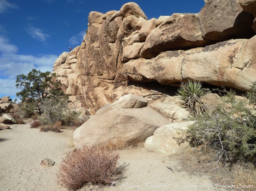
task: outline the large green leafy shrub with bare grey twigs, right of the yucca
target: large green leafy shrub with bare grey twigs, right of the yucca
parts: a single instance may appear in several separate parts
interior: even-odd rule
[[[189,126],[191,145],[205,144],[216,149],[219,161],[255,160],[256,116],[246,107],[248,102],[236,99],[233,91],[221,97],[221,103],[211,112],[194,117]]]

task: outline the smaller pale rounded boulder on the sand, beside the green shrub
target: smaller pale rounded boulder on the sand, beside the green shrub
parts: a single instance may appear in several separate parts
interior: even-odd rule
[[[181,138],[189,125],[194,121],[185,121],[180,123],[172,123],[164,125],[155,130],[154,135],[146,139],[144,147],[148,151],[153,151],[165,155],[180,153],[188,146],[188,144],[178,145],[176,138]]]

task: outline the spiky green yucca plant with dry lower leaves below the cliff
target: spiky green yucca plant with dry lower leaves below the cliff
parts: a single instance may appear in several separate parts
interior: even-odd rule
[[[207,108],[206,104],[201,100],[203,95],[206,95],[209,89],[202,88],[201,82],[188,81],[181,83],[177,94],[183,100],[182,105],[190,109],[192,116],[203,114]]]

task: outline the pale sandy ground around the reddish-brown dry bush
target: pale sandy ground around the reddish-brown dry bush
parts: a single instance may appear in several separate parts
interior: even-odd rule
[[[66,191],[57,185],[56,172],[61,159],[74,149],[73,132],[40,132],[29,124],[11,128],[0,130],[0,191]],[[42,168],[41,159],[45,157],[56,163]],[[177,157],[148,152],[142,146],[122,150],[120,163],[124,162],[129,163],[124,179],[112,186],[84,186],[81,190],[223,190],[221,186],[214,188],[206,175],[182,171]]]

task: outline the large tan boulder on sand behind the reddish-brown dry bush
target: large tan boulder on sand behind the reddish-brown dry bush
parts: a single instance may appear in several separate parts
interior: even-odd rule
[[[144,141],[169,120],[147,106],[147,100],[128,94],[98,110],[75,130],[73,143],[129,145]]]

